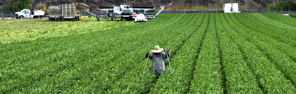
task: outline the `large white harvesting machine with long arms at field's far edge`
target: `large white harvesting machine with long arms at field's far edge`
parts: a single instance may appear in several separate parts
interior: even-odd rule
[[[138,22],[147,21],[147,18],[155,18],[167,6],[160,6],[161,10],[156,15],[154,14],[155,7],[133,7],[132,5],[126,4],[115,7],[98,7],[98,10],[101,11],[100,15],[95,15],[91,12],[88,12],[89,9],[87,9],[86,12],[96,16],[98,21],[100,18],[111,18],[111,20],[118,18],[120,20],[126,19],[135,20],[135,22]]]

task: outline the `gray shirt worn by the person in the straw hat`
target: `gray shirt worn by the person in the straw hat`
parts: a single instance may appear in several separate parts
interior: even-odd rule
[[[161,52],[159,55],[156,55],[153,52],[149,58],[152,59],[152,69],[155,72],[161,72],[165,70],[165,58],[167,58],[165,52]]]

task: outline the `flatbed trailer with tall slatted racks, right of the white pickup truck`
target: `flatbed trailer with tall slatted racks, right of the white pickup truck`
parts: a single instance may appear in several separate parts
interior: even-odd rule
[[[62,6],[50,6],[48,10],[49,21],[82,20],[82,14],[77,13],[75,4],[62,4]]]

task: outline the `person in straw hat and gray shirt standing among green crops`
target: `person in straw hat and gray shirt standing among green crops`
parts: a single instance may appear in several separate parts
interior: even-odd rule
[[[154,47],[154,50],[148,51],[146,53],[145,58],[148,58],[152,60],[152,69],[155,71],[155,74],[157,75],[157,78],[161,76],[163,71],[165,70],[165,58],[168,58],[165,53],[168,53],[168,50],[165,49],[165,52],[163,51],[163,48],[160,48],[158,45]],[[152,53],[153,52],[153,53]],[[170,56],[168,54],[168,56]]]

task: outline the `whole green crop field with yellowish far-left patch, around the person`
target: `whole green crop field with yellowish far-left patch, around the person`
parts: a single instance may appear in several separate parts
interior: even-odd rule
[[[296,93],[296,19],[279,13],[0,23],[0,93]],[[155,45],[173,74],[143,74]]]

